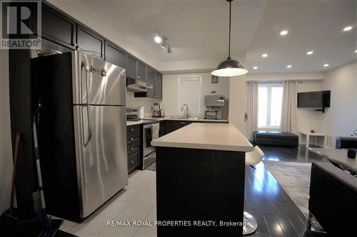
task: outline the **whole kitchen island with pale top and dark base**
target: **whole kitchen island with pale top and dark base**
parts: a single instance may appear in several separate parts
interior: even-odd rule
[[[241,236],[245,152],[231,124],[193,123],[156,147],[158,236]]]

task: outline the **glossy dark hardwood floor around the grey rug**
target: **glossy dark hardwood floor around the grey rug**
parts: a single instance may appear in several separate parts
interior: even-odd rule
[[[261,147],[264,159],[291,162],[324,162],[324,159],[304,147]],[[293,203],[278,181],[271,175],[263,162],[256,169],[246,166],[245,211],[258,222],[256,233],[251,236],[321,236],[306,229],[306,216]]]

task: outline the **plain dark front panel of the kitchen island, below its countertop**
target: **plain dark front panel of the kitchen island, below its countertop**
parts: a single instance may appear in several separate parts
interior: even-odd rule
[[[244,152],[156,147],[157,236],[242,236],[244,175]]]

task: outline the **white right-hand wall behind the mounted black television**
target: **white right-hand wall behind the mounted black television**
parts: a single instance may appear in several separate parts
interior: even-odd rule
[[[334,137],[347,136],[357,130],[357,61],[328,71],[321,90],[331,90],[331,107],[321,120],[321,131],[328,134],[328,146]]]

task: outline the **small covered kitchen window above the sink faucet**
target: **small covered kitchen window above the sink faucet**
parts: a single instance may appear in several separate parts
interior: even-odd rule
[[[201,113],[201,75],[178,78],[178,113],[181,114],[183,104],[188,105],[191,114]]]

